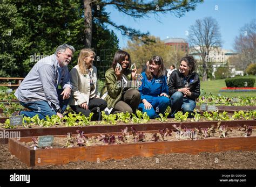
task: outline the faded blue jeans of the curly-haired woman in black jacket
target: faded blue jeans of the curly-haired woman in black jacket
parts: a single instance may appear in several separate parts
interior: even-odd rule
[[[174,118],[174,114],[178,111],[182,110],[183,113],[188,112],[190,115],[196,107],[196,102],[192,99],[188,99],[183,97],[182,92],[177,91],[173,93],[170,98],[170,106],[171,106],[171,117]]]

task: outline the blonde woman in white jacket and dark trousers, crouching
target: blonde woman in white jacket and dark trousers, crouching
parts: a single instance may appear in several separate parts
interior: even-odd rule
[[[89,116],[93,112],[92,120],[97,120],[99,112],[103,111],[107,103],[98,96],[97,69],[93,66],[95,52],[82,49],[78,57],[77,66],[70,71],[70,82],[73,86],[69,105],[76,113],[82,112]]]

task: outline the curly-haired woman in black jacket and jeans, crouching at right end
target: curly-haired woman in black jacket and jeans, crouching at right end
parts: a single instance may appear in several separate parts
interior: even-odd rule
[[[170,76],[168,87],[172,118],[179,110],[191,114],[196,107],[195,99],[200,95],[200,80],[199,75],[194,72],[195,68],[194,57],[185,56],[180,60],[179,69]]]

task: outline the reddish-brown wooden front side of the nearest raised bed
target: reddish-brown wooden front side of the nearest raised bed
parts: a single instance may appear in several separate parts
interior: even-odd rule
[[[23,141],[24,139],[21,139]],[[203,140],[181,140],[181,141],[164,141],[164,142],[139,142],[120,145],[90,146],[90,147],[73,147],[73,148],[54,148],[54,149],[37,149],[35,154],[28,152],[28,148],[21,149],[17,147],[19,142],[11,139],[9,141],[9,150],[19,159],[25,161],[28,166],[44,166],[48,164],[65,164],[71,161],[104,161],[109,159],[124,159],[133,156],[150,157],[157,154],[168,153],[189,153],[198,154],[200,152],[220,152],[227,150],[256,150],[256,137],[241,138],[219,138]],[[19,153],[12,149],[20,150]],[[22,151],[25,150],[23,156]],[[30,154],[30,159],[28,159]],[[25,159],[24,159],[25,157]],[[40,162],[38,162],[40,161]]]

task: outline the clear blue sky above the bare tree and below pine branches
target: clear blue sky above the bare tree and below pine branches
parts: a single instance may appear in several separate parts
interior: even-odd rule
[[[218,9],[218,10],[215,10]],[[211,16],[218,21],[220,26],[221,39],[224,49],[233,49],[234,38],[238,35],[239,29],[252,19],[256,19],[255,0],[205,0],[198,4],[196,10],[187,12],[185,16],[177,18],[171,13],[160,14],[157,21],[154,16],[149,18],[133,19],[118,12],[112,6],[106,6],[106,11],[111,12],[110,18],[114,23],[124,24],[136,28],[142,32],[149,31],[151,35],[166,39],[167,37],[186,38],[186,31],[197,19]],[[127,44],[127,39],[118,30],[109,27],[117,34],[119,47]]]

